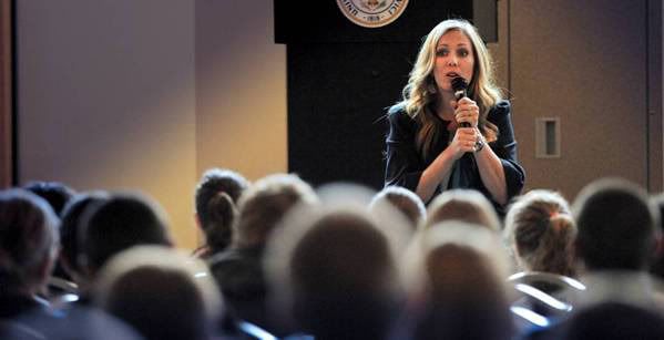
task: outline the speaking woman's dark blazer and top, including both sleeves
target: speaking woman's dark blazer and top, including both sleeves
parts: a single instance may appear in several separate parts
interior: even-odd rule
[[[487,120],[498,126],[498,140],[489,143],[489,146],[502,163],[504,169],[508,202],[517,196],[523,188],[525,174],[517,161],[517,141],[512,127],[510,102],[500,101],[489,111]],[[438,116],[436,116],[438,119]],[[449,121],[439,119],[438,136],[431,145],[429,155],[422,157],[417,151],[416,137],[420,130],[417,120],[411,119],[403,105],[395,105],[388,111],[389,134],[386,138],[387,144],[387,166],[385,171],[385,185],[398,185],[415,192],[420,181],[422,172],[436,159],[436,157],[449,145],[450,134],[447,130]],[[474,159],[470,153],[463,155],[457,161],[448,187],[450,188],[470,188],[480,190],[497,208],[498,213],[503,215],[504,207],[491,198],[491,194],[484,187]],[[440,194],[443,188],[438,187],[432,197]]]

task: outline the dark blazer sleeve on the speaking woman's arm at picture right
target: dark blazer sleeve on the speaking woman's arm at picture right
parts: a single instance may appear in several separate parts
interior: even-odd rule
[[[491,150],[500,158],[505,175],[508,200],[519,195],[525,183],[525,172],[517,158],[517,140],[512,126],[511,105],[500,101],[487,117],[499,130],[498,140],[490,143]]]

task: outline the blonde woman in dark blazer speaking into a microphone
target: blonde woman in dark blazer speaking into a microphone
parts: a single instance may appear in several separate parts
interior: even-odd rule
[[[388,112],[386,185],[425,202],[449,188],[478,189],[502,215],[523,187],[510,103],[493,84],[491,58],[477,29],[445,20],[425,40],[403,100]],[[468,83],[457,100],[452,80]],[[468,127],[460,127],[468,125]]]

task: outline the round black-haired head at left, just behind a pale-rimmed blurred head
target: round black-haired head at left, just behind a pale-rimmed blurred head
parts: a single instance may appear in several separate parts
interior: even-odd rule
[[[116,194],[91,207],[81,226],[83,259],[99,270],[111,257],[136,245],[172,246],[156,203],[140,195]]]

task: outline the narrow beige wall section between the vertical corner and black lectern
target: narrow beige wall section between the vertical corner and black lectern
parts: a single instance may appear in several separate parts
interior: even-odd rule
[[[273,1],[196,0],[196,167],[249,179],[287,164],[286,48]]]

